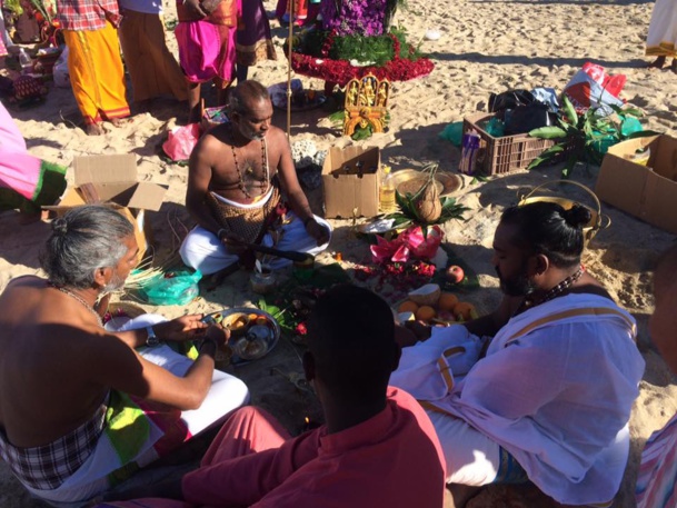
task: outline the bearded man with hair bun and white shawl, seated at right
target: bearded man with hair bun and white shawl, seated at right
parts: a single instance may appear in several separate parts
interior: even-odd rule
[[[426,400],[457,506],[494,482],[531,481],[575,506],[620,486],[644,360],[635,319],[580,263],[589,220],[578,205],[508,208],[491,258],[498,309],[402,336],[424,341],[404,348],[390,384]],[[484,341],[484,358],[458,361]]]

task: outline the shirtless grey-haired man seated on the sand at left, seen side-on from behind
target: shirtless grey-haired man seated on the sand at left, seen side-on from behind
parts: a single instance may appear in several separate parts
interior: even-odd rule
[[[125,217],[80,207],[52,229],[41,255],[48,279],[20,277],[0,296],[0,457],[32,495],[86,501],[108,490],[113,474],[125,479],[162,456],[158,441],[169,451],[223,421],[248,391],[239,379],[215,372],[226,332],[208,328],[200,315],[147,320],[121,332],[103,328],[108,298],[97,300],[120,288],[137,265],[133,227]],[[159,343],[196,338],[203,340],[195,362]],[[158,410],[157,402],[165,416],[176,408],[172,435],[140,411],[137,427],[116,420],[122,406]]]

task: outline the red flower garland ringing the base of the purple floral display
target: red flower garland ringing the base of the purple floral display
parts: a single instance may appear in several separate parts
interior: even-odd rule
[[[351,79],[360,79],[369,73],[372,73],[379,80],[408,81],[421,76],[428,76],[435,68],[435,64],[428,58],[419,58],[418,60],[401,58],[400,41],[392,33],[390,33],[390,37],[392,38],[395,57],[381,67],[356,67],[348,60],[332,60],[327,58],[327,56],[333,46],[333,38],[336,36],[337,32],[331,31],[322,42],[320,52],[322,58],[292,51],[291,68],[293,71],[299,74],[319,78],[327,82],[345,87]],[[414,53],[414,49],[410,46],[408,52],[409,54]]]

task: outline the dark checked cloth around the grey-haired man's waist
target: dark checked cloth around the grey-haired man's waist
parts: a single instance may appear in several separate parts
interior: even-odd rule
[[[93,451],[103,430],[106,405],[72,432],[49,445],[18,448],[0,431],[0,457],[19,481],[36,489],[56,489],[66,481]]]

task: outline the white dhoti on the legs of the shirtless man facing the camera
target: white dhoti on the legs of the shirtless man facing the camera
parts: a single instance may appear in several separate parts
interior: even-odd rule
[[[329,246],[329,242],[318,246],[317,241],[306,231],[303,223],[298,220],[293,213],[289,213],[289,217],[292,218],[292,220],[281,227],[282,237],[275,246],[276,249],[295,250],[315,256]],[[317,216],[315,216],[315,219],[331,231],[331,226],[325,219]],[[272,237],[269,233],[266,233],[261,245],[272,247]],[[200,226],[197,226],[188,233],[179,252],[186,265],[196,270],[200,270],[200,272],[206,276],[216,273],[238,261],[238,256],[228,252],[226,247],[223,247],[223,243],[219,241],[215,233]],[[288,259],[270,257],[265,263],[272,270],[279,270],[289,266],[291,261]]]

